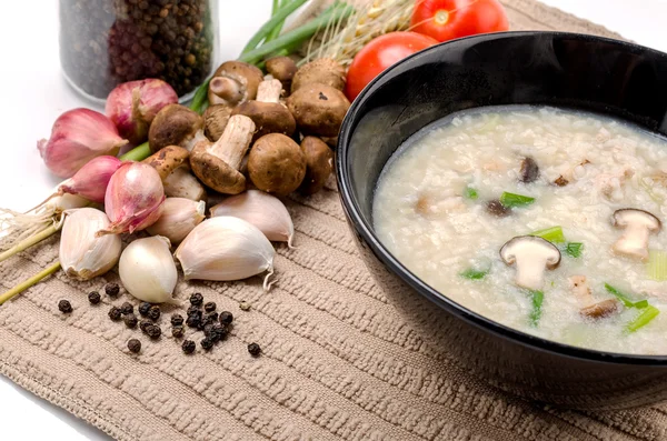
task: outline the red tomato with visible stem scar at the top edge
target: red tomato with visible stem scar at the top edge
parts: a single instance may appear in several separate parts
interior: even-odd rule
[[[417,0],[410,29],[438,41],[509,29],[498,0]]]

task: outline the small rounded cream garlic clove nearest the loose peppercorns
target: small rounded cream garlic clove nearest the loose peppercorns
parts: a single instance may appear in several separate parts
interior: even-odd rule
[[[118,273],[128,292],[149,303],[175,303],[171,298],[178,273],[169,239],[161,235],[137,239],[120,257]]]

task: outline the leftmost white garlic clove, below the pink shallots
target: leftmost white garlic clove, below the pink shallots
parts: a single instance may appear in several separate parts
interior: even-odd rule
[[[109,271],[120,257],[120,237],[98,238],[109,227],[109,218],[100,210],[80,208],[66,212],[60,235],[60,264],[74,279],[90,280]]]

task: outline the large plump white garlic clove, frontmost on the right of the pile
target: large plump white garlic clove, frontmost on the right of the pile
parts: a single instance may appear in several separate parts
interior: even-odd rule
[[[195,227],[176,250],[186,280],[240,280],[269,271],[273,273],[273,247],[249,222],[229,216],[211,218]]]

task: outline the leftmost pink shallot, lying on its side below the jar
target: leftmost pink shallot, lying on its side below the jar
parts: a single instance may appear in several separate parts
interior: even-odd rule
[[[71,178],[91,159],[103,154],[115,157],[127,143],[102,113],[79,108],[58,117],[51,137],[38,141],[37,148],[53,174]]]

